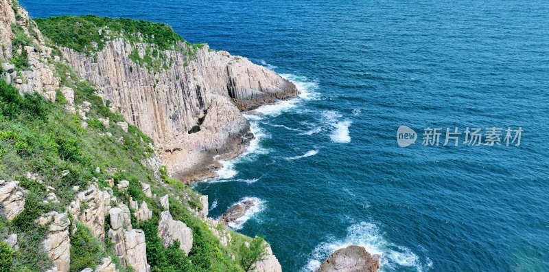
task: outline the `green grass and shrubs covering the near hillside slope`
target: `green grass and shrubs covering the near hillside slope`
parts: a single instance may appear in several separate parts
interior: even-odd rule
[[[50,102],[37,94],[22,96],[0,80],[0,179],[18,180],[27,190],[25,209],[19,216],[9,222],[0,216],[0,240],[8,234],[19,236],[19,250],[0,244],[0,255],[5,258],[2,262],[11,264],[3,267],[3,271],[49,269],[51,262],[42,245],[48,226],[38,226],[36,218],[49,211],[65,212],[75,196],[73,186],[78,185],[82,190],[96,179],[100,187],[106,187],[106,180],[110,178],[115,183],[122,179],[130,181],[126,192],[113,188],[119,201],[126,205],[130,197],[139,203],[146,201],[153,211],[153,218],[143,223],[132,216],[135,227],[145,231],[147,258],[153,271],[180,271],[182,267],[187,271],[245,271],[242,256],[250,256],[250,249],[223,247],[205,222],[189,212],[189,208],[202,208],[198,194],[170,179],[165,168],[160,169],[160,177],[155,179],[154,172],[143,166],[143,159],[152,154],[148,146],[150,139],[135,126],[130,126],[128,133],[122,131],[114,122],[124,118],[108,110],[89,82],[79,80],[66,65],[54,64],[62,85],[75,90],[75,104],[91,102],[86,121],[89,127],[82,128],[82,117],[65,110],[67,100],[62,93],[58,93],[56,102]],[[104,126],[99,118],[109,118],[110,126]],[[100,172],[95,171],[97,167]],[[66,176],[62,175],[65,170],[69,171]],[[38,179],[27,178],[27,172],[37,174]],[[157,234],[161,205],[158,199],[144,195],[141,181],[150,183],[152,192],[158,196],[172,192],[180,197],[180,201],[170,197],[170,212],[175,220],[183,221],[192,229],[194,243],[189,256],[185,256],[178,245],[163,247]],[[49,192],[54,192],[60,203],[45,203],[43,200]],[[113,256],[113,245],[108,239],[100,242],[84,226],[77,225],[78,230],[71,233],[71,271],[93,267],[100,258]],[[237,245],[251,240],[232,234]],[[229,256],[235,256],[235,260]]]

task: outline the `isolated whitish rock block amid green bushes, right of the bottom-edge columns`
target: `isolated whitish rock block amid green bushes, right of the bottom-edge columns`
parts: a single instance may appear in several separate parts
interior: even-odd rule
[[[188,255],[193,247],[192,231],[185,223],[174,220],[170,212],[162,212],[159,221],[159,236],[162,238],[164,247],[172,245],[175,240],[179,241],[179,248]]]

